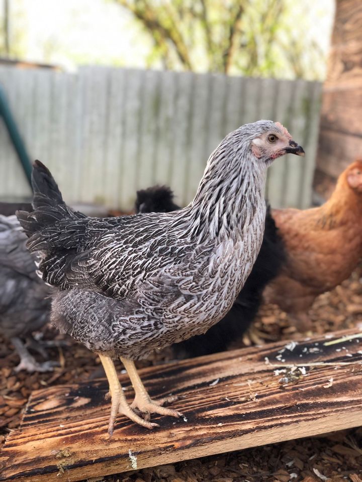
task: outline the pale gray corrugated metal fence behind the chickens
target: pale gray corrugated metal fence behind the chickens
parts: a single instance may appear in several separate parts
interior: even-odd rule
[[[219,141],[269,118],[289,129],[306,157],[275,162],[266,194],[275,207],[310,205],[318,82],[104,67],[75,74],[1,67],[0,82],[31,158],[51,169],[68,202],[128,210],[136,189],[162,183],[186,204]],[[0,162],[0,196],[29,193],[2,124]]]

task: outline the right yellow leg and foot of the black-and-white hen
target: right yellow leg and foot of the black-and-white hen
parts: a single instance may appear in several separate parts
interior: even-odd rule
[[[121,362],[127,370],[135,391],[135,399],[131,405],[132,408],[138,408],[141,412],[146,413],[159,413],[160,415],[170,415],[171,417],[177,418],[183,417],[183,414],[177,412],[176,410],[170,410],[169,408],[162,407],[163,403],[173,402],[177,399],[177,397],[166,397],[161,400],[152,400],[148,395],[132,360],[121,357]]]

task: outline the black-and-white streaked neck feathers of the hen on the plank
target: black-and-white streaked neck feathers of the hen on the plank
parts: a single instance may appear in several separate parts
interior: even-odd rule
[[[266,165],[248,143],[238,150],[222,143],[210,156],[194,200],[183,211],[185,230],[198,243],[242,235],[265,210]]]

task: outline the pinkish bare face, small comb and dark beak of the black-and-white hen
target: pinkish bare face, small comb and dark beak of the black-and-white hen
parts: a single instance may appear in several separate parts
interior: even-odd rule
[[[304,156],[303,148],[293,141],[292,136],[280,122],[274,124],[273,131],[253,139],[251,150],[257,158],[277,159],[284,154]]]

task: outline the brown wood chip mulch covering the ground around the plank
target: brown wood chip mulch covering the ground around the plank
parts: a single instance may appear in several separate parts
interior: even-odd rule
[[[320,296],[309,312],[313,329],[307,336],[359,326],[362,329],[362,265],[330,293]],[[62,339],[54,328],[43,330],[45,340]],[[273,305],[262,306],[249,332],[233,348],[279,339],[299,339],[288,317]],[[11,344],[0,338],[0,443],[20,424],[32,390],[50,385],[81,382],[102,376],[97,356],[69,338],[66,346],[48,349],[58,360],[52,373],[16,373],[19,363]],[[41,358],[37,359],[41,361]],[[169,349],[155,355],[145,366],[171,359]],[[118,367],[121,369],[121,365]],[[179,462],[105,477],[108,482],[362,482],[362,428],[320,437],[270,444],[197,460]],[[89,482],[96,480],[88,479]]]

